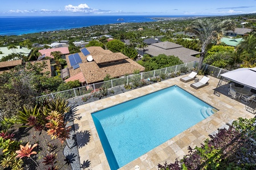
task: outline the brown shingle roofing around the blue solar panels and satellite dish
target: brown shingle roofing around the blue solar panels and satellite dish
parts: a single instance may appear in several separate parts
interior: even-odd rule
[[[129,59],[122,53],[113,53],[110,50],[102,49],[100,46],[90,46],[86,49],[90,52],[89,55],[93,56],[93,61],[88,62],[86,60],[86,56],[84,56],[82,53],[79,53],[79,56],[82,59],[82,63],[79,64],[80,67],[76,70],[71,68],[68,56],[66,56],[71,78],[72,76],[82,73],[86,83],[94,83],[104,80],[106,74],[109,74],[111,77],[118,77],[125,74],[133,74],[134,70],[144,71],[143,66],[139,65],[132,59]],[[118,62],[114,63],[113,61]],[[98,65],[106,62],[113,63]]]

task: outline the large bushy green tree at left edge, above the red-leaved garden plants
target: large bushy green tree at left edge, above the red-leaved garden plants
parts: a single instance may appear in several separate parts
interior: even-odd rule
[[[14,116],[23,106],[34,107],[36,97],[57,90],[63,80],[43,73],[47,65],[27,63],[0,74],[0,111],[3,116]]]

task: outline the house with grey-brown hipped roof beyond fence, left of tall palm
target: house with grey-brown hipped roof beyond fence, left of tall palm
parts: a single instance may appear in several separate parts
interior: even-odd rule
[[[142,54],[142,52],[140,53]],[[149,54],[150,56],[158,56],[159,54],[166,54],[166,56],[176,56],[179,57],[183,62],[199,61],[199,58],[195,56],[200,54],[200,52],[184,48],[182,45],[169,41],[148,45],[146,48],[144,48],[143,53]]]

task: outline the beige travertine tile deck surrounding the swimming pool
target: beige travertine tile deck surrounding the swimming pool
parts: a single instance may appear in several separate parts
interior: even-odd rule
[[[155,92],[163,88],[174,86],[175,84],[212,105],[214,108],[217,108],[219,111],[119,169],[131,170],[134,169],[135,165],[139,165],[140,169],[158,169],[157,165],[159,163],[164,163],[166,161],[167,163],[170,163],[174,162],[176,158],[183,158],[183,155],[188,154],[188,146],[191,146],[192,148],[200,146],[200,143],[203,143],[205,139],[209,138],[208,135],[210,133],[226,124],[226,122],[232,119],[237,120],[238,117],[252,118],[255,116],[245,110],[244,104],[222,94],[220,97],[213,94],[213,89],[216,88],[219,79],[208,76],[210,78],[209,85],[200,88],[199,90],[195,90],[190,87],[190,84],[194,83],[193,81],[184,83],[179,80],[181,77],[182,76],[164,80],[123,94],[111,96],[89,104],[80,105],[73,109],[76,132],[88,130],[90,133],[89,141],[84,145],[79,145],[82,146],[79,147],[81,164],[88,163],[89,167],[87,168],[92,170],[110,169],[100,138],[98,137],[97,130],[92,120],[92,112],[150,94],[151,92]],[[200,79],[202,76],[197,77]],[[79,140],[80,139],[77,139],[77,143],[83,143],[83,141]]]

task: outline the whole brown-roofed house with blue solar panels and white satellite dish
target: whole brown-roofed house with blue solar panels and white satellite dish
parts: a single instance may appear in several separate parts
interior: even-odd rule
[[[70,78],[65,82],[79,80],[83,85],[102,82],[106,75],[117,78],[133,74],[134,70],[144,71],[143,66],[122,53],[113,53],[100,46],[83,48],[80,53],[67,55],[66,60]]]

